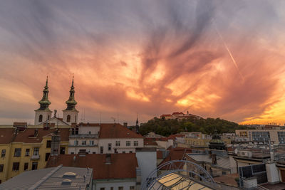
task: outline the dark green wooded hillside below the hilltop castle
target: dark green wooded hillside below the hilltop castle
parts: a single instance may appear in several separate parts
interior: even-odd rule
[[[183,120],[165,120],[155,117],[146,123],[140,125],[140,134],[145,135],[148,132],[168,137],[170,134],[179,132],[202,132],[213,134],[217,130],[219,134],[223,132],[234,132],[234,130],[244,130],[246,127],[238,125],[235,122],[229,122],[220,118],[199,118],[190,117]]]

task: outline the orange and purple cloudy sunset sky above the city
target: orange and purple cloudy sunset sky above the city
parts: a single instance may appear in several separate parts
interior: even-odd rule
[[[285,123],[285,1],[0,1],[0,124],[33,123],[72,76],[80,118],[172,112]]]

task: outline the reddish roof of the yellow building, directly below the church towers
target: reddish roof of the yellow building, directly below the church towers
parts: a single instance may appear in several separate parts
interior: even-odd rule
[[[45,130],[43,128],[38,129],[38,135],[36,137],[33,137],[33,134],[36,129],[33,128],[27,128],[23,132],[18,132],[13,142],[25,142],[25,143],[34,143],[34,142],[41,142],[43,140],[43,137],[52,134],[56,130],[54,129],[48,129]],[[60,128],[58,130],[58,135],[61,136],[61,141],[68,141],[69,140],[69,128]]]

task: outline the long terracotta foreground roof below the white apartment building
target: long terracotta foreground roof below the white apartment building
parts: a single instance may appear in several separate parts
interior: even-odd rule
[[[60,154],[48,159],[46,167],[90,167],[93,168],[93,179],[136,178],[138,167],[135,153],[110,154],[110,164],[105,164],[107,154]],[[76,157],[76,159],[74,159]]]

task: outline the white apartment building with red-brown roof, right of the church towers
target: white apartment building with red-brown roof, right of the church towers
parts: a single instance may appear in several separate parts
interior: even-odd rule
[[[118,123],[80,123],[71,129],[68,154],[132,153],[142,147],[142,135]]]

